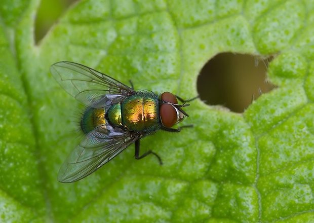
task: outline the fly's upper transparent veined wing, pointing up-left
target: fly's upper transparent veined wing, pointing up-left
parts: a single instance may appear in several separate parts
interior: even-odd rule
[[[107,94],[125,97],[136,93],[104,73],[74,62],[55,63],[50,72],[66,92],[88,106],[99,103]]]

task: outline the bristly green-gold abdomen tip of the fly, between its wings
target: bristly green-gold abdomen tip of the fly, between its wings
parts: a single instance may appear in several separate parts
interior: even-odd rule
[[[81,129],[87,134],[99,125],[106,124],[105,109],[88,107],[81,119]]]

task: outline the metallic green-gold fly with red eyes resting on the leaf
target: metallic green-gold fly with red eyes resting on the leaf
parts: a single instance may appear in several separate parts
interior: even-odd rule
[[[182,107],[189,104],[182,98],[164,92],[135,91],[127,85],[87,66],[74,62],[57,62],[50,68],[59,85],[85,104],[81,129],[85,134],[80,144],[62,164],[58,180],[74,182],[90,175],[135,143],[135,159],[140,156],[140,139],[159,129],[180,132],[172,128],[188,116]],[[131,83],[132,85],[132,83]],[[178,104],[178,100],[183,104]]]

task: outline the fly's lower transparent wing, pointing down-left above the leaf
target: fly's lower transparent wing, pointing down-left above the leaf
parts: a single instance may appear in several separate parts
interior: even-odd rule
[[[124,151],[140,136],[102,125],[89,132],[62,164],[58,180],[68,183],[90,175]]]

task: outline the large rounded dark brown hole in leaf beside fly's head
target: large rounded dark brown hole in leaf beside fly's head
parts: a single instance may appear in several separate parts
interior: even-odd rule
[[[271,57],[261,60],[245,54],[221,53],[209,60],[198,78],[201,100],[242,113],[261,93],[275,86],[266,82]]]

